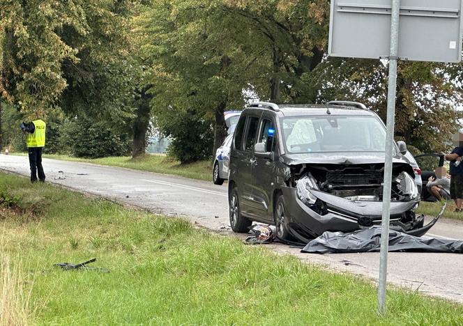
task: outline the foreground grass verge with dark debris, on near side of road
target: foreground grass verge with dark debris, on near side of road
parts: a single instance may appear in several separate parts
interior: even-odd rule
[[[1,252],[31,287],[38,325],[462,325],[463,306],[376,289],[265,247],[0,173]],[[111,272],[63,271],[78,263]]]

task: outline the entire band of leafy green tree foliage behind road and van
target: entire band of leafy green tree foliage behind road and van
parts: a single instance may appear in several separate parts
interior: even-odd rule
[[[151,117],[183,162],[210,156],[225,137],[224,111],[250,98],[358,100],[386,118],[387,68],[326,55],[327,0],[0,0],[0,8],[0,98],[24,119],[65,114],[119,137],[133,132],[134,156]],[[462,72],[400,62],[397,139],[447,149],[460,127]]]

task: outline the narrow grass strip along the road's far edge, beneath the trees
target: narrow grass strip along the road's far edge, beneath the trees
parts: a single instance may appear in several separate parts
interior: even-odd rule
[[[15,155],[25,155],[16,153]],[[130,156],[121,157],[102,157],[98,159],[84,159],[72,157],[69,155],[50,155],[46,154],[43,157],[66,160],[74,162],[86,162],[108,166],[119,166],[128,169],[172,174],[174,176],[182,176],[197,180],[212,180],[212,164],[211,161],[201,161],[191,164],[181,164],[166,155],[142,155],[132,160]]]

